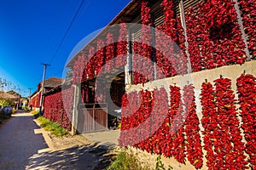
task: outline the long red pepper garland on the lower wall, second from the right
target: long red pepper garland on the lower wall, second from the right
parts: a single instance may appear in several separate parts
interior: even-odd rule
[[[245,169],[247,161],[243,154],[245,149],[241,142],[239,120],[236,117],[235,94],[231,90],[231,81],[228,78],[219,78],[214,81],[216,86],[217,120],[221,132],[218,155],[224,156],[222,166],[231,169]]]

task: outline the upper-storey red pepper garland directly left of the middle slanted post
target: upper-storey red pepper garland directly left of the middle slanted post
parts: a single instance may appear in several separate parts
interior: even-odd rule
[[[173,77],[187,73],[187,56],[185,38],[181,20],[175,16],[172,0],[164,0],[161,4],[165,14],[165,22],[156,29],[156,64],[157,77]],[[178,32],[178,34],[177,34]]]

